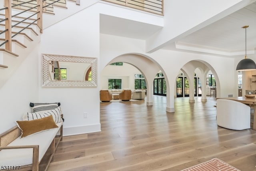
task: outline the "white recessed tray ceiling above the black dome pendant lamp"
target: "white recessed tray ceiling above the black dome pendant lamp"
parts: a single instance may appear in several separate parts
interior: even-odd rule
[[[256,3],[230,14],[182,39],[176,44],[217,50],[222,52],[245,51],[245,29],[247,50],[256,48]],[[164,47],[173,49],[173,44]]]

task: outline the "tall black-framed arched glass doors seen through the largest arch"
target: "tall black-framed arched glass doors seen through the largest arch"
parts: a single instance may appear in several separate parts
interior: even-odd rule
[[[166,82],[163,73],[156,74],[154,79],[154,95],[166,96]]]

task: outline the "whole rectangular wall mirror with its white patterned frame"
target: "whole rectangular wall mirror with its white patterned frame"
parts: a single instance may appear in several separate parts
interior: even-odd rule
[[[42,54],[42,86],[96,87],[97,58]]]

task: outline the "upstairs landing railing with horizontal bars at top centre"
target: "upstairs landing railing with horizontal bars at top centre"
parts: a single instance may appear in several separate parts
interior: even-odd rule
[[[164,15],[164,0],[104,0],[115,4]]]

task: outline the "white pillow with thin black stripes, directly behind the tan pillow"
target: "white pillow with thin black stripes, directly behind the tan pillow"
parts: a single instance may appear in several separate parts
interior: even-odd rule
[[[34,120],[34,119],[44,118],[44,117],[47,117],[49,115],[52,115],[55,123],[62,122],[60,107],[57,107],[57,108],[51,109],[51,110],[38,111],[38,112],[35,112],[35,113],[28,113],[27,112],[23,115],[22,119],[23,119],[23,121],[31,121],[31,120]]]

